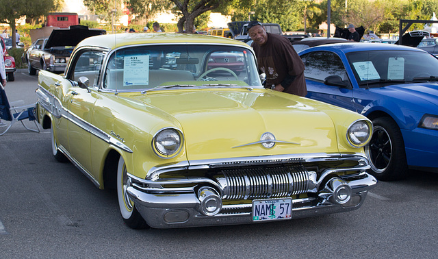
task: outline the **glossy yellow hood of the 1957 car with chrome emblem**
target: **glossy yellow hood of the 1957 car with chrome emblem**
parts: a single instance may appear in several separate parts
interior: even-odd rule
[[[306,103],[319,102],[305,98],[245,91],[149,92],[135,98],[147,106],[155,106],[180,123],[175,126],[183,130],[188,160],[318,153],[322,150],[339,153],[331,117]],[[339,110],[334,106],[329,106],[330,109]],[[345,111],[342,112],[345,115]],[[266,132],[283,143],[276,143],[272,149],[262,147],[257,141]]]

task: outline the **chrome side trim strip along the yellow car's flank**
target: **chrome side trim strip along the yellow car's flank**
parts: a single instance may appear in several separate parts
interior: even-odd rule
[[[97,138],[100,138],[101,140],[105,141],[106,143],[109,143],[110,145],[114,145],[129,153],[133,152],[131,149],[129,149],[129,147],[127,147],[127,145],[120,142],[120,140],[118,140],[117,138],[114,138],[110,134],[107,134],[103,130],[99,129],[98,127],[95,127],[94,125],[88,123],[87,121],[84,121],[73,112],[70,112],[69,110],[64,108],[64,106],[62,106],[60,99],[55,97],[55,95],[53,95],[48,90],[43,88],[40,84],[38,84],[38,90],[36,90],[36,95],[38,97],[38,103],[40,104],[40,106],[45,110],[47,110],[47,112],[52,114],[55,118],[63,117],[64,119],[67,119],[72,123],[75,123],[75,125],[77,125],[78,127],[81,127],[82,130],[85,130],[86,132],[93,134]]]

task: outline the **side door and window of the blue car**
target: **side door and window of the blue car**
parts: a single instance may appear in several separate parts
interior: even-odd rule
[[[301,55],[301,59],[305,64],[306,97],[352,110],[352,86],[341,58],[330,51],[313,51]],[[329,76],[339,77],[346,86],[324,84]]]

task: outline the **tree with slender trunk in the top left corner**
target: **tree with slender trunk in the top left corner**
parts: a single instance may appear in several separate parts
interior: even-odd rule
[[[54,0],[0,0],[0,23],[8,23],[12,30],[12,39],[15,38],[15,24],[22,16],[35,18],[47,15],[55,8]],[[12,47],[16,47],[12,40]]]

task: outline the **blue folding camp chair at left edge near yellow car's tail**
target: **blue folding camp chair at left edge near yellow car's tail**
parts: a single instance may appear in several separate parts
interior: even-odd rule
[[[40,128],[36,123],[35,118],[35,108],[36,103],[24,105],[24,101],[14,101],[9,103],[8,97],[6,97],[5,88],[0,84],[0,119],[3,121],[10,121],[10,124],[6,129],[0,133],[0,136],[8,132],[8,130],[14,125],[14,123],[20,121],[21,124],[31,132],[40,132]],[[33,121],[35,123],[35,129],[31,129],[23,123],[23,120],[28,119],[29,121]],[[2,128],[0,127],[0,130]]]

